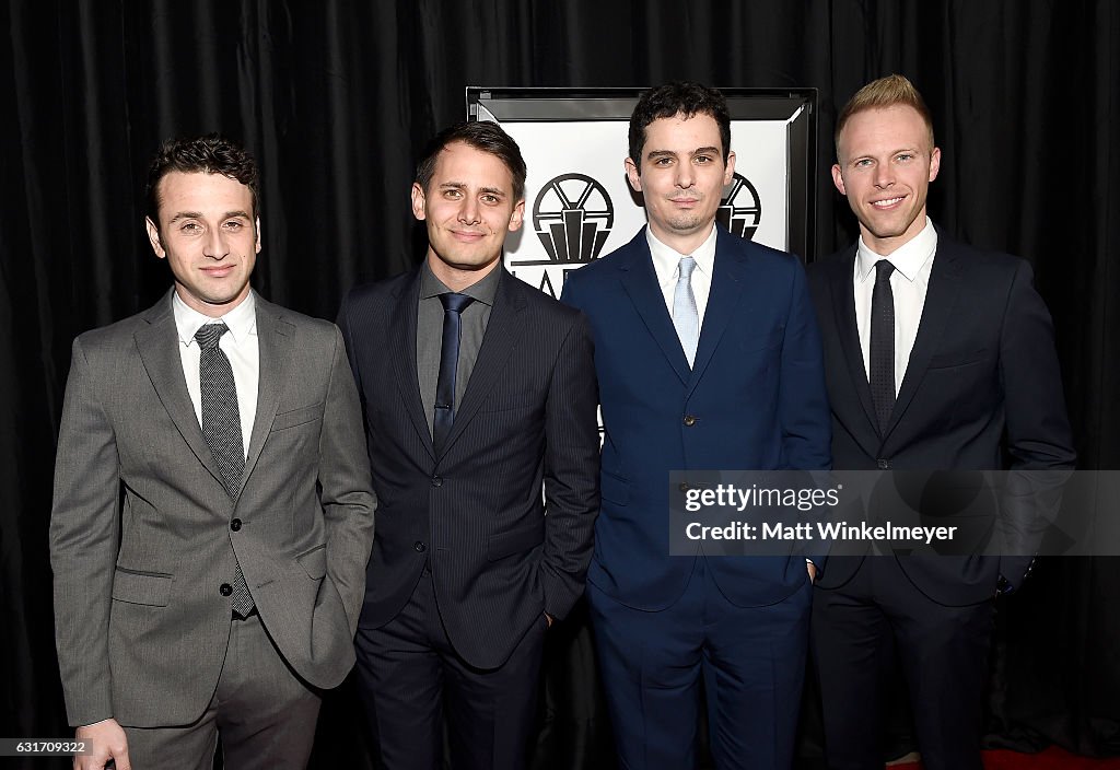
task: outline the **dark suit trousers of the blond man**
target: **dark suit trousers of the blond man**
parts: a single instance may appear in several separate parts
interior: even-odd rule
[[[897,660],[925,770],[981,770],[993,601],[939,604],[886,555],[865,556],[850,581],[814,593],[811,636],[829,769],[883,770],[883,703]]]

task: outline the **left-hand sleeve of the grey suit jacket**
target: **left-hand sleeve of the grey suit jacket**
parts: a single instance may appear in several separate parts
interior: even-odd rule
[[[50,514],[55,642],[74,726],[113,716],[109,613],[120,542],[120,477],[113,426],[74,340]]]

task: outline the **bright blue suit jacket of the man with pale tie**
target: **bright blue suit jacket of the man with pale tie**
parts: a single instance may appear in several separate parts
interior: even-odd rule
[[[590,319],[606,429],[588,580],[629,607],[664,609],[697,557],[669,555],[671,470],[829,467],[821,342],[804,271],[792,255],[720,228],[692,369],[644,228],[569,274],[562,300]],[[720,556],[708,567],[741,607],[778,602],[806,580],[800,555]]]

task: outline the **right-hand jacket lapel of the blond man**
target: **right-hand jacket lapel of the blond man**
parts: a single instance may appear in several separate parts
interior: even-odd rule
[[[903,377],[903,384],[898,388],[898,398],[895,400],[895,409],[890,413],[890,422],[887,423],[884,439],[898,424],[898,420],[917,393],[925,370],[930,368],[930,359],[941,344],[945,326],[954,314],[956,295],[961,290],[961,261],[953,253],[944,234],[939,233],[937,253],[930,273],[930,287],[925,293],[922,320],[917,327],[914,349],[906,363],[906,376]]]

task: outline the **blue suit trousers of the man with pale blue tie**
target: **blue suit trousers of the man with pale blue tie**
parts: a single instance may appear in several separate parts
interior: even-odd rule
[[[591,583],[587,594],[620,768],[696,767],[702,676],[716,767],[790,769],[808,658],[808,575],[776,604],[738,607],[698,556],[683,595],[664,610],[626,607]]]

